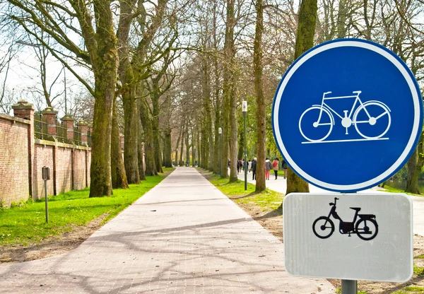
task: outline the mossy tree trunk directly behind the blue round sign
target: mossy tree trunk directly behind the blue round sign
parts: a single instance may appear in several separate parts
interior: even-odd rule
[[[314,46],[317,9],[317,0],[302,0],[302,4],[300,4],[295,59]],[[309,184],[295,175],[289,167],[285,194],[291,192],[309,192]]]

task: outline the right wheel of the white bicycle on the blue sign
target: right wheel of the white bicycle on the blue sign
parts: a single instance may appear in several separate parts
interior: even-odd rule
[[[389,112],[389,108],[381,102],[365,102],[353,114],[356,131],[365,139],[378,139],[384,136],[390,128]]]

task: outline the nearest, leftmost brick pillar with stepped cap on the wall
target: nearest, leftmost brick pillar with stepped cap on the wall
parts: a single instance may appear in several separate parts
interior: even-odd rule
[[[12,105],[15,117],[28,119],[28,185],[30,195],[34,198],[33,194],[33,164],[34,164],[34,105],[25,100],[20,100],[18,103]]]

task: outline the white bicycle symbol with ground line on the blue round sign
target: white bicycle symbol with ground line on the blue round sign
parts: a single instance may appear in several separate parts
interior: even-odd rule
[[[321,105],[312,105],[305,110],[299,119],[300,134],[307,140],[302,143],[329,143],[346,141],[367,141],[367,140],[387,140],[382,138],[389,131],[391,117],[390,109],[383,102],[369,100],[362,102],[359,95],[362,91],[353,91],[355,95],[326,97],[331,92],[325,92],[322,95]],[[343,110],[344,115],[338,114],[334,108],[331,108],[326,101],[346,98],[355,98],[351,110]],[[335,125],[334,114],[341,119],[341,126],[346,129],[355,126],[356,131],[363,139],[344,139],[324,141],[333,130]],[[312,127],[311,128],[311,124]],[[372,127],[370,127],[372,126]]]

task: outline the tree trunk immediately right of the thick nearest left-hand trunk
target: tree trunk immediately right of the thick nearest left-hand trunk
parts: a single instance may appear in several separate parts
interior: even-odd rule
[[[126,180],[126,173],[124,167],[124,160],[122,160],[122,149],[121,149],[121,136],[119,135],[118,126],[118,111],[116,98],[113,103],[112,112],[112,142],[111,142],[111,161],[110,169],[112,171],[112,187],[113,189],[128,188],[128,182]]]

